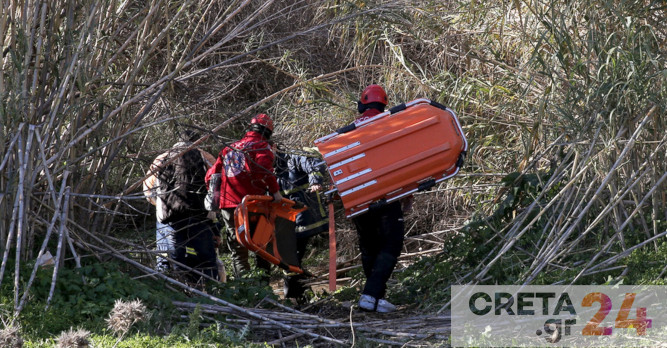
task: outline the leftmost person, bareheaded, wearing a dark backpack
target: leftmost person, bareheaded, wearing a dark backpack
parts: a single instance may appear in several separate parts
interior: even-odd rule
[[[215,158],[197,148],[174,158],[197,138],[194,132],[182,132],[179,142],[155,158],[143,187],[146,199],[156,208],[157,249],[164,251],[157,256],[156,269],[161,272],[183,269],[178,264],[172,266],[165,257],[169,255],[180,264],[217,278],[214,244],[220,238],[220,231],[204,209],[204,178]],[[187,273],[186,280],[201,284],[202,277]]]

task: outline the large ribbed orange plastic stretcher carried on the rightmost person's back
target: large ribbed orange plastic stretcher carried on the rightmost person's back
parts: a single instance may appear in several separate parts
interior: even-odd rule
[[[468,142],[451,109],[428,99],[315,140],[347,217],[456,175]]]

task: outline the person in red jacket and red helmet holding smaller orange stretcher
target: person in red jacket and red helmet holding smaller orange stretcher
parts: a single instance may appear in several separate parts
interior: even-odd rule
[[[250,270],[248,249],[235,236],[234,209],[246,195],[265,195],[280,201],[278,180],[273,173],[274,154],[268,141],[273,133],[273,120],[266,114],[258,114],[250,120],[250,129],[239,141],[225,146],[206,173],[206,187],[211,175],[220,176],[220,215],[226,227],[227,245],[232,253],[234,276]],[[268,272],[270,263],[256,258],[257,266]]]

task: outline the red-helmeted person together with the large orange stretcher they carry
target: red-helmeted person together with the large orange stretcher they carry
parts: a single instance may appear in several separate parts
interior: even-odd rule
[[[370,85],[353,124],[315,140],[345,214],[356,226],[366,284],[364,310],[391,312],[387,280],[403,247],[403,213],[412,195],[455,176],[468,143],[453,110],[415,99],[385,111],[387,93]],[[331,208],[330,208],[331,209]],[[330,273],[333,271],[330,271]]]

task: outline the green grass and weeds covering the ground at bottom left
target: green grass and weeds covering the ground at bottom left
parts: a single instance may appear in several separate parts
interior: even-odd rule
[[[89,332],[88,339],[96,347],[112,347],[116,342],[120,342],[117,347],[246,346],[247,332],[225,328],[222,321],[200,327],[201,313],[183,321],[171,301],[191,299],[160,282],[133,280],[114,263],[90,264],[81,270],[64,269],[52,305],[44,310],[51,273],[40,271],[32,288],[33,299],[18,318],[26,347],[54,347],[72,329]],[[82,276],[86,283],[82,282]],[[253,306],[271,294],[270,289],[259,284],[259,278],[257,275],[231,281],[222,289],[210,291],[232,303]],[[7,282],[3,284],[2,307],[12,308],[13,291]],[[129,305],[141,311],[138,320],[128,317],[137,310]],[[118,309],[123,306],[128,308]],[[117,314],[112,314],[112,309]],[[9,322],[10,311],[4,310],[2,317]]]

